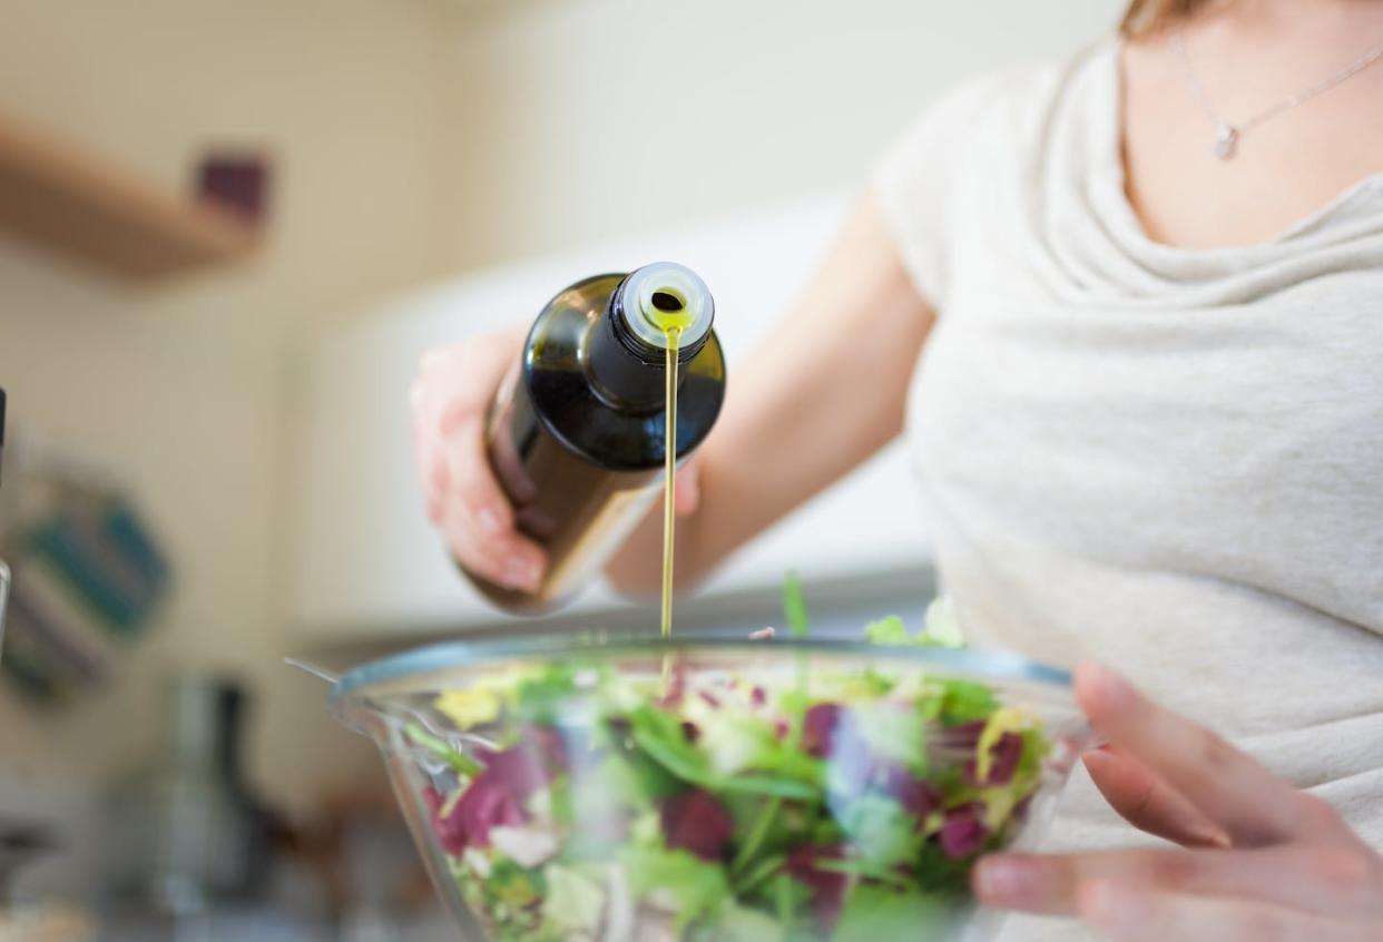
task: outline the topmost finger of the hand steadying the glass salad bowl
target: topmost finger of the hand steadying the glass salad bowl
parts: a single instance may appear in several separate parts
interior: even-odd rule
[[[1235,845],[1261,847],[1319,830],[1317,809],[1289,783],[1109,668],[1082,664],[1076,699],[1098,733],[1156,772]]]

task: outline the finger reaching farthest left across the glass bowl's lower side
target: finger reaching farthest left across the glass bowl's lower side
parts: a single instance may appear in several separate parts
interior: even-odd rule
[[[975,892],[987,906],[1068,916],[1079,910],[1080,894],[1102,880],[1149,892],[1253,899],[1322,914],[1383,914],[1368,855],[1347,848],[1001,853],[981,860],[974,877]]]

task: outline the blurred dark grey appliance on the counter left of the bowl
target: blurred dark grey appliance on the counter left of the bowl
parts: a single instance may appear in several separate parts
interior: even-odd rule
[[[263,895],[272,820],[241,775],[245,694],[214,676],[171,678],[152,761],[111,794],[104,871],[118,902],[192,916]]]

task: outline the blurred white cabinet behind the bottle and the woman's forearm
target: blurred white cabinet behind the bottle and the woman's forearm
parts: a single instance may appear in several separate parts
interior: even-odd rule
[[[368,317],[319,338],[304,351],[304,470],[293,502],[299,551],[292,614],[308,640],[516,624],[456,574],[423,513],[412,468],[408,387],[425,350],[519,324],[535,296],[553,285],[592,271],[678,259],[705,279],[716,299],[716,333],[733,397],[736,371],[752,369],[752,349],[790,311],[844,212],[845,201],[828,196],[479,271],[386,300]],[[833,443],[823,438],[820,447]],[[765,610],[777,610],[777,591],[790,570],[809,587],[813,603],[916,596],[921,609],[931,588],[929,557],[914,474],[895,443],[740,551],[704,589],[678,603],[678,621],[709,624],[750,598],[766,602],[755,609],[765,617]],[[828,599],[831,592],[838,598]],[[747,617],[747,610],[736,617]],[[644,614],[595,585],[550,618],[614,628],[617,618]],[[639,624],[647,627],[647,620]]]

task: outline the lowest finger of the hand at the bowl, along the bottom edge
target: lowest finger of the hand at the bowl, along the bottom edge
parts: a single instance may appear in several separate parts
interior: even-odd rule
[[[1369,942],[1377,923],[1292,912],[1271,903],[1133,889],[1112,881],[1080,895],[1080,916],[1115,942]]]

